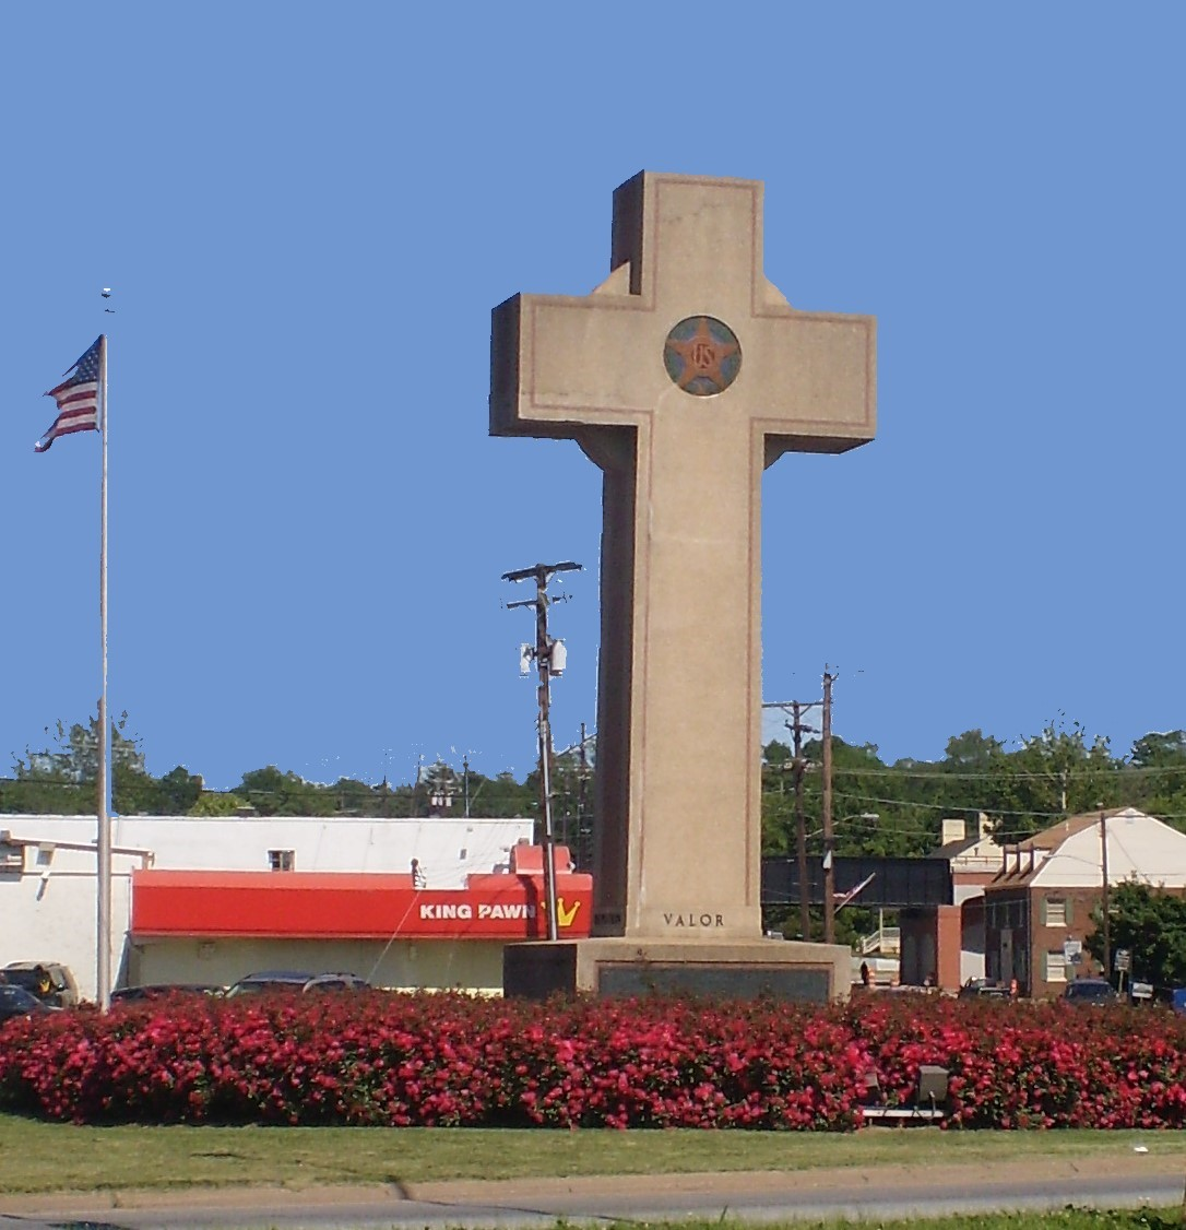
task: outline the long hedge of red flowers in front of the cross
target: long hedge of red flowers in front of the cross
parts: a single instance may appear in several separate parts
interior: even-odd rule
[[[1186,1125],[1186,1021],[862,996],[547,1005],[460,995],[172,1000],[10,1022],[0,1109],[76,1123],[849,1130],[951,1074],[946,1127]],[[876,1076],[876,1082],[872,1076]]]

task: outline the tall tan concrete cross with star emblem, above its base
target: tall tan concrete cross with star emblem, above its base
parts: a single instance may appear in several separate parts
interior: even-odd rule
[[[760,935],[762,472],[875,430],[875,322],[763,274],[762,184],[643,172],[587,298],[495,309],[490,429],[604,474],[594,935]]]

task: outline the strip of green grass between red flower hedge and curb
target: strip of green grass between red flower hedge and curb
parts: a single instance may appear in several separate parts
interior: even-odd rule
[[[1181,1156],[1170,1132],[498,1130],[465,1128],[82,1128],[0,1114],[0,1192],[133,1187],[426,1183],[453,1178],[671,1175],[1009,1159]]]

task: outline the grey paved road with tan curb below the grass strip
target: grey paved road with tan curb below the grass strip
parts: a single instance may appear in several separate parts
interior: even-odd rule
[[[535,1228],[559,1219],[754,1223],[835,1218],[918,1218],[957,1212],[1164,1207],[1182,1203],[1186,1161],[1118,1156],[1033,1159],[1000,1166],[624,1176],[420,1183],[290,1191],[194,1189],[0,1196],[0,1230],[247,1230],[333,1228]]]

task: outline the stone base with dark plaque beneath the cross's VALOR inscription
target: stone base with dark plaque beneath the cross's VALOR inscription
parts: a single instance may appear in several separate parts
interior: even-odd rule
[[[851,952],[835,943],[790,940],[593,940],[508,943],[502,989],[508,998],[710,995],[824,1004],[848,999]]]

